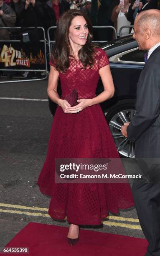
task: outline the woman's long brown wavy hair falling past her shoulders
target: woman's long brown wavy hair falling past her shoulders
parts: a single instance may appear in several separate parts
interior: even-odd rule
[[[83,11],[71,9],[63,13],[58,20],[56,28],[56,43],[51,55],[51,61],[55,64],[56,70],[62,73],[65,73],[69,68],[69,56],[72,56],[68,46],[68,38],[71,21],[76,16],[83,16],[89,29],[86,44],[78,51],[79,59],[84,66],[83,68],[86,68],[87,65],[91,68],[94,64],[94,53],[97,46],[91,43],[93,37],[93,27],[91,22]]]

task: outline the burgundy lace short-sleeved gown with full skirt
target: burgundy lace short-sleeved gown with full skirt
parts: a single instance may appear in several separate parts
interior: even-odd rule
[[[53,63],[50,62],[52,66]],[[97,49],[94,66],[83,67],[70,59],[65,74],[59,72],[62,97],[78,91],[79,99],[95,97],[99,69],[109,64],[102,49]],[[57,220],[79,225],[99,225],[108,213],[134,205],[129,184],[58,184],[55,183],[56,158],[119,158],[117,148],[99,104],[79,114],[64,113],[57,107],[51,128],[46,161],[38,178],[40,191],[51,196],[48,214]]]

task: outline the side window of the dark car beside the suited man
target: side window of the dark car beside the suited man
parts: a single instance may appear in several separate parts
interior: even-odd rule
[[[135,51],[130,51],[127,54],[123,54],[119,57],[121,61],[135,61],[135,62],[144,62],[144,54],[146,51],[140,51],[136,49]]]

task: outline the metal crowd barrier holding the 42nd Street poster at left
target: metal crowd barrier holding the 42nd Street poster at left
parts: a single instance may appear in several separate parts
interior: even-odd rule
[[[38,81],[38,80],[44,80],[48,77],[48,69],[47,69],[47,49],[46,49],[46,36],[45,36],[45,30],[43,27],[28,27],[28,28],[21,28],[21,27],[7,27],[7,29],[12,29],[12,30],[18,30],[18,29],[25,29],[25,30],[30,30],[30,29],[41,29],[43,31],[43,40],[40,40],[39,42],[44,43],[44,56],[45,56],[45,69],[0,69],[0,71],[7,71],[7,72],[13,72],[13,71],[18,71],[18,72],[45,72],[46,75],[45,77],[42,78],[36,78],[36,79],[21,79],[21,80],[9,80],[9,81],[1,81],[0,83],[8,83],[8,82],[28,82],[28,81]],[[0,27],[0,29],[6,29],[6,27]],[[0,43],[21,43],[20,40],[0,40]],[[27,43],[24,43],[27,44]]]

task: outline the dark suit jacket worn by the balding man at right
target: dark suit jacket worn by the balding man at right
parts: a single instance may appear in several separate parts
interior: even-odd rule
[[[136,112],[127,127],[136,158],[160,158],[160,46],[150,55],[137,83]]]

